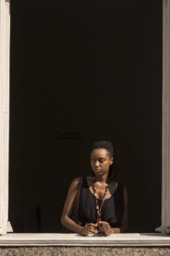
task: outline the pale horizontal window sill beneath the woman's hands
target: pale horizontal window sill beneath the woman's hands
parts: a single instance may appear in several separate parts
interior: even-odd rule
[[[158,233],[113,234],[111,236],[79,236],[78,234],[6,234],[0,246],[63,246],[63,247],[167,247],[170,236]]]

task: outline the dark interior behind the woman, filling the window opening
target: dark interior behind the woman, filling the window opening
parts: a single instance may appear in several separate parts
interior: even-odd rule
[[[67,189],[110,139],[129,232],[161,224],[161,0],[11,0],[9,220],[59,232]]]

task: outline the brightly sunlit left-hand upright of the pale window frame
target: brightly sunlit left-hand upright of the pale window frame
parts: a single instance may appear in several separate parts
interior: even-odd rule
[[[0,234],[8,224],[9,1],[0,0]]]

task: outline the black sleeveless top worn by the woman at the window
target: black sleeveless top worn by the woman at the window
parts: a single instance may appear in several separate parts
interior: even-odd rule
[[[100,202],[101,200],[99,199],[99,203]],[[111,225],[111,228],[121,226],[124,212],[124,193],[123,186],[121,184],[118,183],[113,195],[111,195],[110,198],[105,199],[101,212],[101,219],[108,222]],[[87,223],[96,223],[95,196],[88,187],[86,177],[82,178],[78,216],[82,226]]]

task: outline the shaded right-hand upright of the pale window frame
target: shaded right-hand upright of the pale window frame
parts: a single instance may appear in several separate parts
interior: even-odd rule
[[[170,233],[170,0],[162,4],[161,227],[156,230]]]

